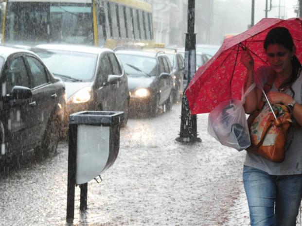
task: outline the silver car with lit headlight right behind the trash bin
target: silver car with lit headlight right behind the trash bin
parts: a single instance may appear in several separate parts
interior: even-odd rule
[[[127,75],[112,50],[52,44],[38,45],[32,50],[53,75],[64,80],[65,126],[70,114],[84,110],[124,111],[121,125],[127,123],[130,99]]]

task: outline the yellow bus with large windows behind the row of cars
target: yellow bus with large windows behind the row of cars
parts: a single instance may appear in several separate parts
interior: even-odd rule
[[[142,0],[0,0],[1,43],[153,46],[152,8]]]

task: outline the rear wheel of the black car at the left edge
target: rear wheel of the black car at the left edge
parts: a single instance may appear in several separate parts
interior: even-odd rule
[[[47,122],[41,145],[35,148],[36,155],[39,157],[53,156],[56,153],[59,139],[60,129],[58,117],[53,116]]]

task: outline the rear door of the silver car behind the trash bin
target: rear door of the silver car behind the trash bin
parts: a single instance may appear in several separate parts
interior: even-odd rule
[[[124,111],[128,105],[128,84],[127,84],[127,75],[122,70],[122,66],[117,60],[114,53],[109,53],[109,59],[111,61],[113,67],[113,74],[119,75],[120,80],[117,84],[113,84],[112,86],[115,88],[115,101],[116,101],[116,111]]]

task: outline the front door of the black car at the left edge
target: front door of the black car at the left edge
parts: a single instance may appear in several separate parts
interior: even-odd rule
[[[1,75],[1,93],[3,105],[0,119],[4,124],[5,140],[8,150],[14,153],[30,147],[32,124],[32,99],[12,99],[11,92],[14,86],[30,86],[30,77],[21,54],[8,58]]]

